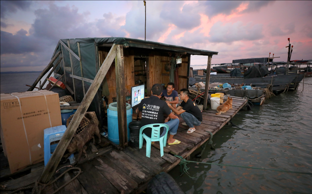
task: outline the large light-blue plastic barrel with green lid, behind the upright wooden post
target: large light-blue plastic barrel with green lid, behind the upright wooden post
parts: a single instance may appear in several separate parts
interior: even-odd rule
[[[126,103],[127,110],[127,132],[128,141],[130,140],[129,123],[132,121],[132,108],[131,105]],[[119,145],[119,132],[118,132],[118,116],[117,116],[117,102],[110,103],[107,109],[107,132],[108,139],[115,144]]]

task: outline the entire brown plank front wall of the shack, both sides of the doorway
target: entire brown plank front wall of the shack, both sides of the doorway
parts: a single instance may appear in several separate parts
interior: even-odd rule
[[[105,60],[108,49],[100,49],[99,58],[100,64]],[[173,54],[174,56],[174,54]],[[182,63],[179,64],[178,75],[185,76],[184,78],[179,78],[178,89],[188,88],[187,86],[187,73],[188,73],[188,57],[189,55],[182,56]],[[169,82],[169,73],[165,70],[165,64],[170,60],[168,52],[157,52],[152,51],[149,53],[149,58],[146,59],[146,74],[147,74],[147,95],[151,95],[150,89],[156,83],[167,85]],[[134,76],[134,74],[143,74],[144,72],[134,72],[134,70],[142,70],[144,60],[137,60],[134,62],[134,50],[129,48],[124,48],[124,72],[125,72],[125,85],[127,96],[130,95],[131,87],[135,85],[136,80],[142,80],[144,83],[144,76]],[[167,74],[167,75],[163,75]],[[112,103],[112,98],[116,97],[116,74],[115,74],[115,62],[110,66],[106,74],[106,80],[110,95],[106,96],[109,103]],[[175,87],[177,90],[177,87]],[[129,90],[129,91],[128,91]],[[179,92],[179,90],[177,90]]]

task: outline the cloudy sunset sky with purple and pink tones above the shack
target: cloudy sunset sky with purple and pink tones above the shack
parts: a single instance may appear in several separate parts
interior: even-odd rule
[[[140,1],[0,1],[0,70],[40,71],[59,39],[144,40]],[[212,64],[268,57],[312,59],[312,1],[149,1],[146,40],[218,51]],[[193,66],[195,65],[195,66]],[[191,56],[194,69],[207,56]],[[206,66],[207,67],[207,66]]]

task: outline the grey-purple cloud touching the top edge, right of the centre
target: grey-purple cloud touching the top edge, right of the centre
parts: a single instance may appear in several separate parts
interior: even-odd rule
[[[247,9],[243,12],[254,12],[259,11],[261,7],[267,6],[269,3],[274,1],[205,1],[202,2],[205,8],[207,16],[212,17],[220,13],[230,15],[232,10],[236,9],[241,3],[248,3]]]

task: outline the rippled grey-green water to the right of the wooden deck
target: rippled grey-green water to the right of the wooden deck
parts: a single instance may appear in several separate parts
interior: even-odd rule
[[[305,78],[312,84],[312,78]],[[213,136],[216,148],[206,148],[192,161],[312,172],[312,85],[302,84],[295,93],[273,97],[263,106],[240,111],[232,119],[238,127],[224,127]],[[227,129],[226,129],[227,128]],[[169,172],[187,194],[199,193],[312,193],[312,175],[267,170],[188,164]]]

